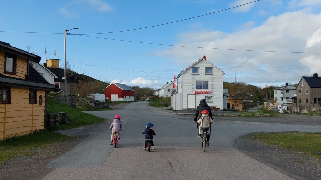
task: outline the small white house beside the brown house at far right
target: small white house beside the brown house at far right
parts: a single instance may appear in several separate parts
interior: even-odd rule
[[[296,87],[285,83],[285,86],[274,89],[274,100],[276,99],[277,104],[292,106],[292,99],[290,98],[294,94],[296,94]]]

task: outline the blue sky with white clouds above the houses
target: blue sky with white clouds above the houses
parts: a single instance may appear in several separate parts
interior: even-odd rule
[[[1,0],[0,41],[31,46],[41,63],[45,48],[47,60],[56,50],[63,66],[72,29],[71,69],[154,89],[204,55],[227,82],[284,86],[321,76],[321,0],[253,1]]]

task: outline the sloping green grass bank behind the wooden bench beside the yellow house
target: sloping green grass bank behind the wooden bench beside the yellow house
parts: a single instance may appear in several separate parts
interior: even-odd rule
[[[54,126],[53,130],[70,129],[103,122],[103,119],[100,117],[84,113],[81,110],[75,108],[70,108],[67,104],[63,104],[59,101],[49,98],[47,113],[51,112],[68,113],[68,123]]]

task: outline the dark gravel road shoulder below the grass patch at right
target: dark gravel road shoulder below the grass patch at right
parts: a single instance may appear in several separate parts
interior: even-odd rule
[[[321,160],[279,146],[247,140],[235,140],[235,146],[248,156],[298,180],[321,179]]]

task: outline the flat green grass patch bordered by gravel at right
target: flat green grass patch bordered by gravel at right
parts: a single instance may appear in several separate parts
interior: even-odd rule
[[[281,146],[292,151],[321,159],[321,133],[277,132],[255,133],[247,135],[247,139],[263,141],[267,144]]]

